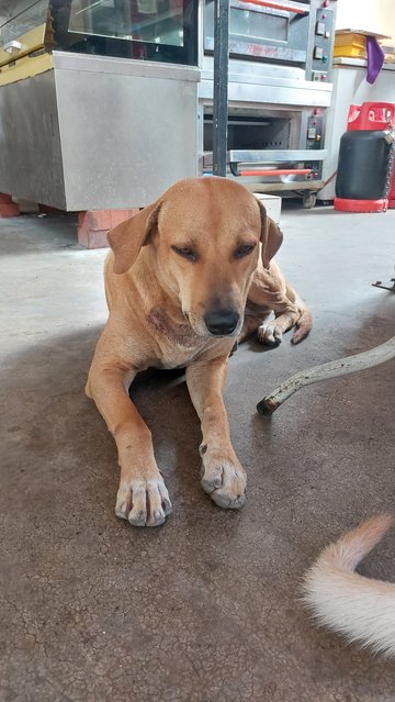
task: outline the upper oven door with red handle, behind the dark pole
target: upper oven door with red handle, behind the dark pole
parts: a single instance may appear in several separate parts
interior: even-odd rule
[[[230,0],[230,55],[304,64],[308,38],[308,4],[285,0],[275,3],[269,1],[268,5],[270,4],[276,7]],[[214,0],[205,1],[204,49],[214,49]]]

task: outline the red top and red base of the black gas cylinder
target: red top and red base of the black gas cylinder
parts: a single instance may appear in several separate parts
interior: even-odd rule
[[[394,129],[394,102],[363,102],[363,104],[351,104],[349,108],[347,132],[386,131]],[[395,209],[395,166],[393,167],[392,186],[387,198],[380,200],[335,198],[334,207],[335,210],[341,210],[343,212],[385,212],[387,208]]]

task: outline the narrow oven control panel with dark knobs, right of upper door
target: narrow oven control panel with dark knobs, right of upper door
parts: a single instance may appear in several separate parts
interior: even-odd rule
[[[335,40],[335,12],[325,4],[316,10],[313,40],[312,79],[319,82],[329,79]]]

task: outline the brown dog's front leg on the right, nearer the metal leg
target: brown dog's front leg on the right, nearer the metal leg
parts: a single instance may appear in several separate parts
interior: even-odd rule
[[[237,510],[245,502],[247,478],[230,443],[222,395],[226,369],[227,356],[200,359],[187,368],[187,385],[202,426],[202,488],[221,508]]]

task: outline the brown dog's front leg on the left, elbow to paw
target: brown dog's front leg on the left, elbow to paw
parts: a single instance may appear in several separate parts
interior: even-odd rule
[[[121,466],[115,514],[135,526],[158,526],[171,502],[154,457],[150,431],[129,400],[129,370],[93,361],[87,393],[115,438]]]

